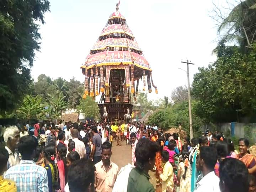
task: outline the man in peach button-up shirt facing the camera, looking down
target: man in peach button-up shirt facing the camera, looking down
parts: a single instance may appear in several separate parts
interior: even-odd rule
[[[102,160],[95,164],[96,192],[112,192],[119,172],[118,166],[110,160],[112,155],[111,144],[104,142],[101,146]]]

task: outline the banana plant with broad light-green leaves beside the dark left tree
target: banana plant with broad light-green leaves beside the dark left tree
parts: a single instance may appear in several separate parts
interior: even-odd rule
[[[22,119],[40,119],[44,117],[44,105],[42,97],[37,95],[26,95],[21,102],[20,107],[16,110],[18,118]]]

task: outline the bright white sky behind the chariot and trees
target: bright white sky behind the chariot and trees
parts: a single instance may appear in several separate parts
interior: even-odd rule
[[[118,0],[50,0],[50,12],[41,25],[41,50],[36,53],[32,78],[40,74],[84,81],[80,66],[96,42]],[[171,96],[177,86],[190,84],[198,67],[216,60],[216,22],[209,16],[212,0],[120,0],[119,11],[143,50],[153,70],[154,84],[149,99]],[[185,70],[181,70],[181,69]],[[142,83],[140,83],[141,85]],[[153,89],[154,90],[154,89]]]

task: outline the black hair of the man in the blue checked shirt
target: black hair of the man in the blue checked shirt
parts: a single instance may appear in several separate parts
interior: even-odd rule
[[[18,143],[18,151],[23,160],[32,160],[32,155],[37,147],[37,139],[34,136],[23,136]]]

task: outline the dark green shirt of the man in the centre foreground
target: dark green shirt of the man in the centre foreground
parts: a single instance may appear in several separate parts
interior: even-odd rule
[[[128,178],[127,192],[155,192],[149,178],[149,174],[145,171],[133,168]]]

